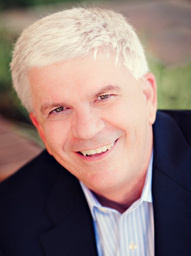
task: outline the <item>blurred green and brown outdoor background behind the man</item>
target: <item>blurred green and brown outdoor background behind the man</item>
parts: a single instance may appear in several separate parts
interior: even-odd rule
[[[191,109],[190,0],[0,0],[0,180],[44,147],[11,87],[13,44],[35,20],[78,5],[123,13],[136,28],[156,76],[158,109]]]

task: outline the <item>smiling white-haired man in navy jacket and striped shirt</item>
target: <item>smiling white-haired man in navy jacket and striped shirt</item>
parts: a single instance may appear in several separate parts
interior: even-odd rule
[[[125,18],[42,18],[11,72],[47,151],[0,186],[0,255],[188,256],[191,115],[156,117],[155,78]]]

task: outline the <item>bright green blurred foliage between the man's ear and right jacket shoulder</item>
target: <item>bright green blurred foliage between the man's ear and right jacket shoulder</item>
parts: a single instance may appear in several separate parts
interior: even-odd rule
[[[165,67],[149,60],[157,79],[158,109],[191,109],[191,63]]]

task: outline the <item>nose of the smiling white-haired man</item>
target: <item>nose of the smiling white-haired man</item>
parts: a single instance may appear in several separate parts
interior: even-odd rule
[[[99,110],[100,111],[100,110]],[[78,139],[88,140],[104,129],[104,121],[99,111],[84,108],[75,112],[71,132]]]

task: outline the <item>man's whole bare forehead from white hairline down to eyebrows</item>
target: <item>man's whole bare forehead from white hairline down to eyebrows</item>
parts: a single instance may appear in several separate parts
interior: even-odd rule
[[[114,56],[104,55],[97,55],[95,60],[75,59],[29,71],[33,101],[38,105],[63,101],[71,104],[78,98],[89,99],[105,86],[119,87],[134,80],[125,66],[116,66]]]

